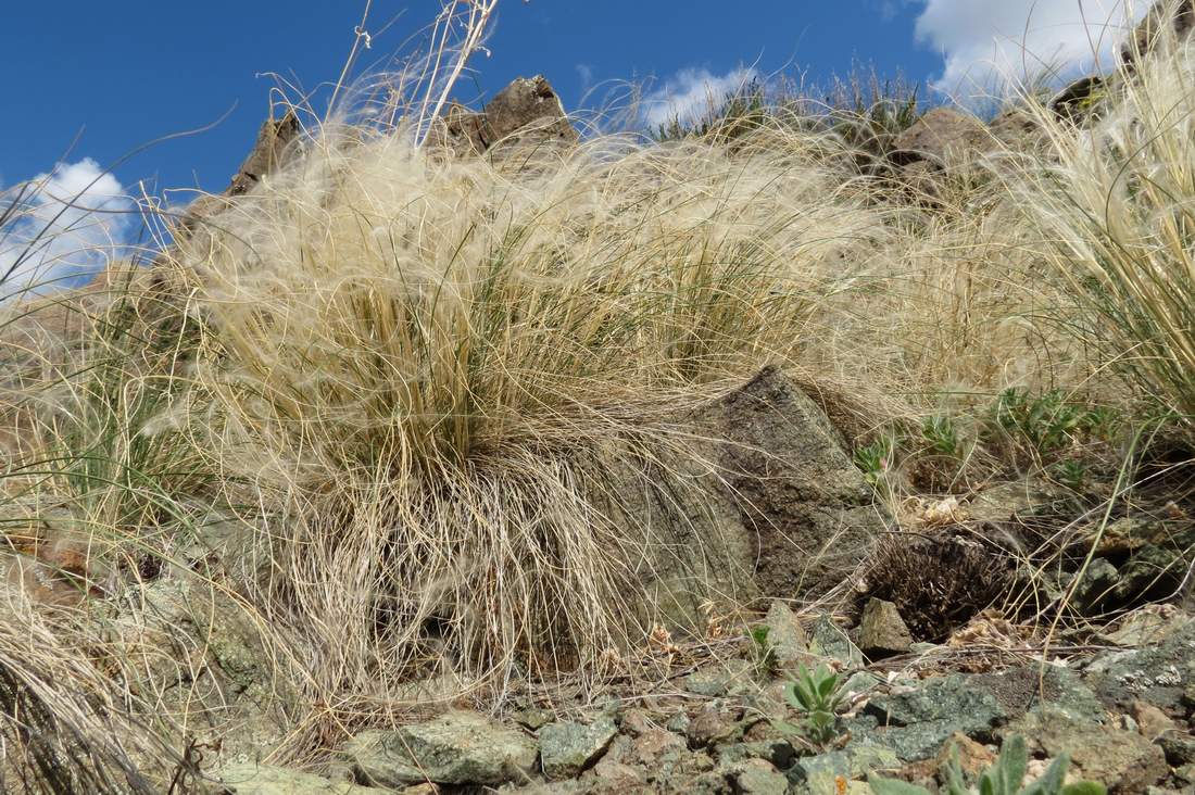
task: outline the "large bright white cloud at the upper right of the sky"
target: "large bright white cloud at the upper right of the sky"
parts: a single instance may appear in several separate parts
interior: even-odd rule
[[[1117,0],[923,0],[917,37],[939,50],[934,87],[998,91],[1047,71],[1065,79],[1107,62],[1130,24]],[[1138,2],[1140,18],[1148,2]]]

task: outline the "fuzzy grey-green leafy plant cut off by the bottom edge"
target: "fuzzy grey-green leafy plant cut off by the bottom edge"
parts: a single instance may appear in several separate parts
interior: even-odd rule
[[[991,768],[979,776],[976,788],[970,788],[963,781],[963,773],[958,765],[958,750],[955,748],[954,758],[945,784],[948,795],[1104,795],[1107,791],[1103,784],[1084,781],[1073,784],[1065,783],[1066,769],[1071,765],[1067,754],[1060,754],[1046,770],[1041,778],[1028,787],[1022,787],[1025,781],[1025,770],[1029,766],[1029,750],[1023,736],[1012,736],[1000,748],[1000,758]],[[868,779],[871,790],[876,795],[930,795],[930,790],[924,787],[909,784],[891,778],[871,776]]]

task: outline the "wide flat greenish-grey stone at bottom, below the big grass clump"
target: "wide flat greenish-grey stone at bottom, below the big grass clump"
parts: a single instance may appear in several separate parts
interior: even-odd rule
[[[360,779],[381,787],[522,782],[538,756],[522,732],[466,711],[396,730],[363,732],[345,753]]]

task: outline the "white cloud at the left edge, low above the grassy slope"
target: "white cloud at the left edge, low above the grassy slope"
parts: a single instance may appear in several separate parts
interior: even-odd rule
[[[122,256],[133,209],[116,177],[91,158],[0,189],[0,300],[102,270]]]

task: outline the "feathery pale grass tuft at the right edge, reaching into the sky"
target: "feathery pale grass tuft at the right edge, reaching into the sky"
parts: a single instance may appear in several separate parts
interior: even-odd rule
[[[1046,261],[1089,312],[1076,330],[1145,393],[1195,415],[1195,84],[1171,35],[1109,81],[1079,129],[1047,112],[1049,152],[1013,188]]]

